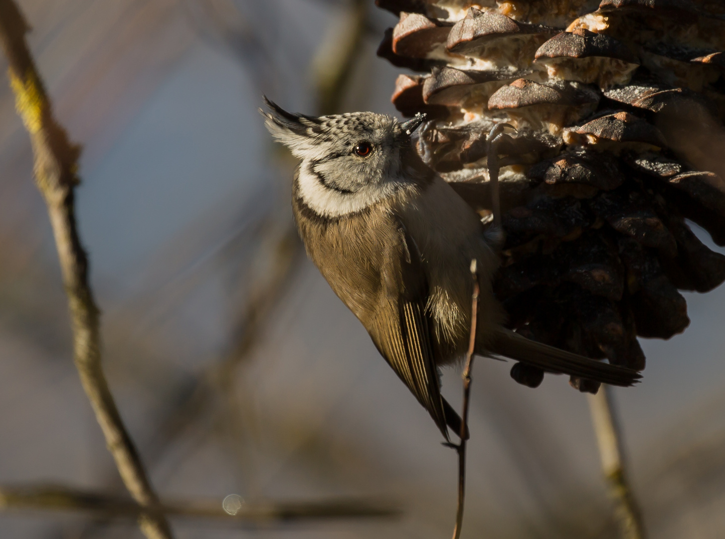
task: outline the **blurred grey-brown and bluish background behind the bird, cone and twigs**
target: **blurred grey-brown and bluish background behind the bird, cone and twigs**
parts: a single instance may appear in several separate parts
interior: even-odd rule
[[[162,498],[361,497],[402,509],[257,525],[176,517],[176,536],[450,534],[455,453],[305,258],[291,223],[294,162],[257,112],[264,93],[300,112],[395,114],[389,96],[401,70],[375,52],[396,17],[372,1],[18,3],[57,117],[83,144],[77,211],[103,311],[104,366]],[[0,489],[123,495],[72,364],[32,166],[3,82]],[[642,340],[642,384],[614,395],[650,535],[720,538],[725,294],[685,296],[689,328],[668,342]],[[531,390],[509,368],[480,359],[473,371],[463,537],[616,536],[585,396],[565,377]],[[444,375],[452,403],[459,375]],[[141,533],[133,519],[6,508],[0,536]]]

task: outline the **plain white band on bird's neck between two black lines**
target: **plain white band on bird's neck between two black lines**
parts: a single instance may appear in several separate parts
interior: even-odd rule
[[[319,215],[325,217],[341,217],[349,213],[364,210],[395,192],[397,182],[386,182],[384,185],[363,185],[356,192],[341,193],[328,189],[320,182],[320,178],[311,174],[303,162],[299,169],[299,196]]]

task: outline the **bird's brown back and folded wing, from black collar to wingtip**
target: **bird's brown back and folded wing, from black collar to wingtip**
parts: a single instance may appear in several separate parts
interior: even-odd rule
[[[293,193],[293,208],[307,252],[330,287],[444,437],[446,423],[460,432],[460,418],[441,398],[425,308],[428,284],[420,252],[405,228],[386,207],[373,207],[365,218],[322,222]]]

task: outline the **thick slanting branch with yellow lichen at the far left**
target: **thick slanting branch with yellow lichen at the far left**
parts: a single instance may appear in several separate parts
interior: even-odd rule
[[[28,25],[12,0],[0,0],[0,41],[9,62],[17,111],[30,133],[38,189],[48,207],[73,332],[73,355],[80,381],[96,413],[106,444],[133,499],[143,508],[138,522],[149,539],[170,539],[169,524],[146,477],[136,447],[123,425],[101,368],[99,310],[88,285],[88,259],[75,222],[80,148],[53,117],[25,33]]]

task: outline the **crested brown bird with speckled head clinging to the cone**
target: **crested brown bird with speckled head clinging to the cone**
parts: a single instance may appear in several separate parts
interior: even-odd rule
[[[300,160],[292,210],[307,255],[445,440],[449,427],[462,432],[441,395],[440,369],[460,363],[468,348],[472,260],[480,289],[476,354],[618,386],[637,382],[634,370],[505,328],[492,290],[500,231],[486,228],[418,156],[413,133],[423,115],[405,122],[375,112],[315,117],[264,101],[266,128]]]

